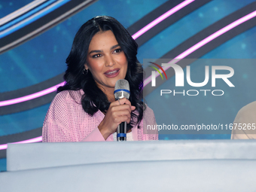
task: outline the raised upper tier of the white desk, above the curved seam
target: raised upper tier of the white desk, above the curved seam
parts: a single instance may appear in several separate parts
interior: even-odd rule
[[[256,160],[252,140],[10,144],[7,170],[148,160]]]

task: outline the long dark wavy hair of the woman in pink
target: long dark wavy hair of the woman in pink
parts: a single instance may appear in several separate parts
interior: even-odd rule
[[[100,110],[105,112],[108,110],[110,102],[102,90],[97,87],[93,79],[93,75],[88,71],[83,74],[84,64],[87,61],[87,52],[90,41],[97,32],[105,32],[111,30],[117,39],[118,44],[125,53],[128,61],[128,67],[125,79],[130,84],[130,102],[136,106],[136,111],[132,112],[131,122],[128,125],[130,130],[137,123],[139,124],[143,116],[144,104],[142,102],[143,87],[143,69],[137,59],[138,45],[131,37],[129,32],[113,17],[97,16],[88,20],[81,26],[75,35],[72,50],[69,53],[66,63],[68,69],[64,75],[66,84],[59,87],[57,92],[62,90],[84,90],[81,104],[88,114],[93,115]]]

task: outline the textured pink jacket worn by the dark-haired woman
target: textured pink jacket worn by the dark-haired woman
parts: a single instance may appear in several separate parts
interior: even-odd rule
[[[99,142],[105,141],[99,132],[98,125],[105,117],[102,111],[97,111],[93,116],[87,114],[81,105],[83,90],[65,90],[58,93],[47,111],[43,126],[43,142]],[[132,128],[133,140],[157,140],[158,135],[148,133],[143,122],[154,125],[156,120],[151,108],[144,111],[140,128]],[[145,132],[143,133],[143,130]],[[148,133],[148,134],[145,134]],[[113,141],[113,135],[106,141]]]

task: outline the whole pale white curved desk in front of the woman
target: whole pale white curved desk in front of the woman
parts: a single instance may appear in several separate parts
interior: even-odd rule
[[[0,191],[255,191],[256,142],[11,144]]]

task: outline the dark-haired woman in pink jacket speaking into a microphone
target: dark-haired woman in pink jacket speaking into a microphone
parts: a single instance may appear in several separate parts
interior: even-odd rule
[[[158,139],[157,134],[143,133],[143,122],[156,122],[142,102],[143,70],[137,47],[113,17],[94,17],[81,26],[66,59],[66,84],[58,88],[44,120],[43,142],[113,141],[123,121],[127,140]],[[130,100],[115,101],[119,79],[129,81]]]

